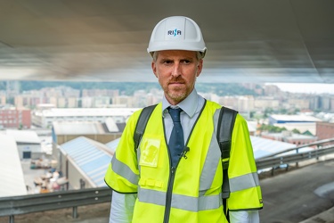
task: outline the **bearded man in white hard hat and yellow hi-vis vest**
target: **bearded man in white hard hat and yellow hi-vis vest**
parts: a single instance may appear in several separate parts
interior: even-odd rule
[[[213,119],[221,106],[194,87],[206,50],[199,26],[189,18],[168,17],[153,29],[148,52],[164,97],[137,149],[134,128],[141,111],[126,123],[105,177],[113,189],[110,222],[259,222],[261,190],[247,123],[240,115],[232,132],[225,217]],[[177,109],[180,120],[174,120]]]

